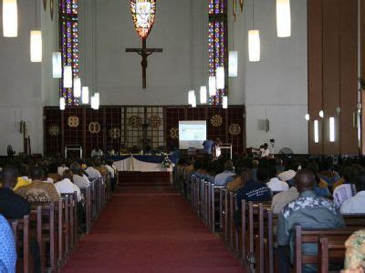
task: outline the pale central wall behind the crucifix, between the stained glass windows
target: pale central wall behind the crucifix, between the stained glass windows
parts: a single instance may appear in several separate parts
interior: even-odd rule
[[[162,47],[163,53],[148,58],[145,90],[141,88],[141,56],[125,52],[127,47],[141,47],[129,1],[82,0],[79,18],[81,77],[87,85],[97,86],[101,104],[186,105],[191,81],[195,90],[207,84],[207,1],[157,2],[147,46]]]

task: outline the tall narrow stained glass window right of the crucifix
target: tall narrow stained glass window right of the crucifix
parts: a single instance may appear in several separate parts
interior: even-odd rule
[[[209,76],[215,76],[218,66],[224,67],[227,76],[227,0],[209,0],[208,26]],[[225,81],[226,82],[226,81]],[[218,89],[209,99],[210,104],[219,106],[226,88]]]

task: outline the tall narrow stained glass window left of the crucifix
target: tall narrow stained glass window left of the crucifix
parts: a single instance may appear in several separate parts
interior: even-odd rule
[[[78,0],[59,0],[59,33],[62,66],[72,66],[73,76],[78,76]],[[60,96],[66,98],[68,106],[78,106],[72,88],[64,88],[59,83]]]

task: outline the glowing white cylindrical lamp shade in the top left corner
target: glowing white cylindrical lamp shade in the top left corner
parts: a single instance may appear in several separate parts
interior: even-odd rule
[[[17,37],[16,0],[3,0],[3,35]]]

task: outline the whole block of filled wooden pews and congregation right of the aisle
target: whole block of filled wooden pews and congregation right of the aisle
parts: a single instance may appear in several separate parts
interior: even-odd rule
[[[182,158],[174,186],[247,269],[364,272],[364,163]]]

